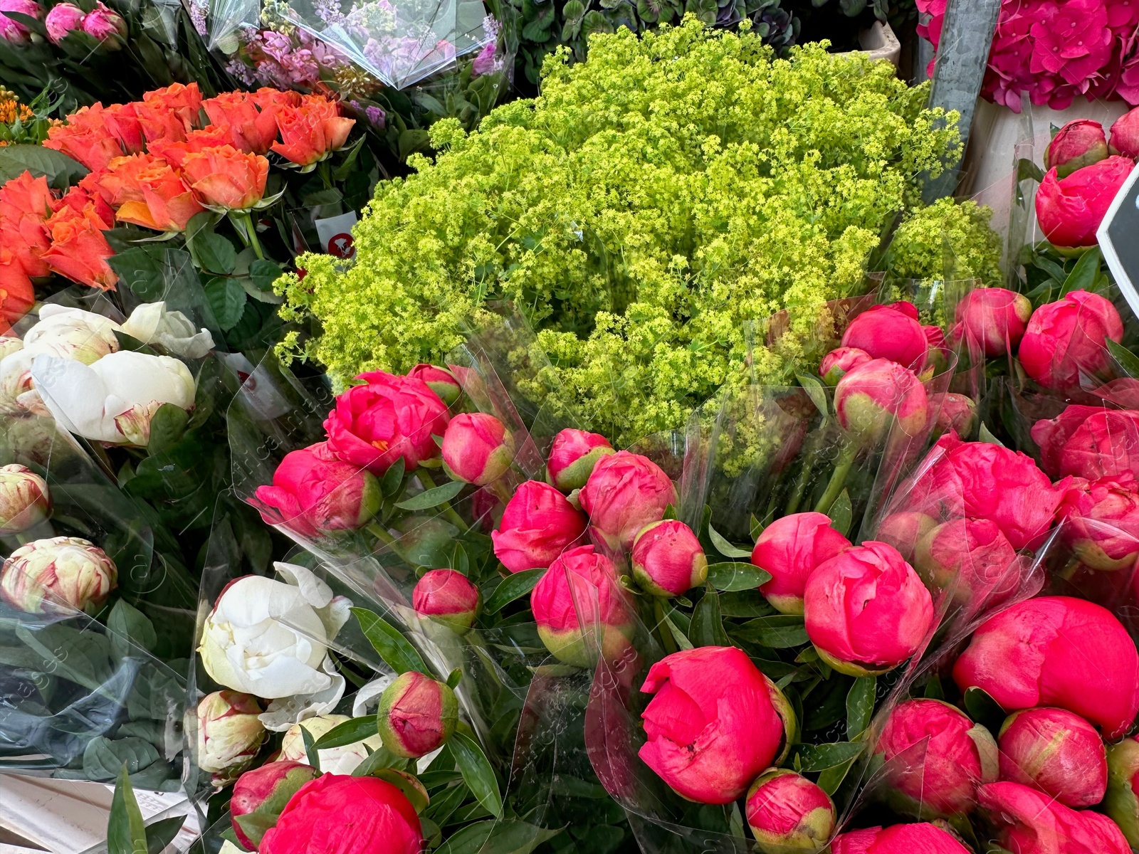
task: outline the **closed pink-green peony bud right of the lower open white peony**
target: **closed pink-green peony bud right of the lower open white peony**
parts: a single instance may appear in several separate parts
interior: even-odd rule
[[[459,704],[448,685],[408,671],[384,689],[376,720],[384,747],[396,756],[417,758],[451,738],[459,721]]]

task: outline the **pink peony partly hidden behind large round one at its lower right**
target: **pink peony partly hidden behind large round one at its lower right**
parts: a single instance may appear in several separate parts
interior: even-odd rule
[[[825,514],[792,514],[776,519],[760,534],[752,563],[771,574],[760,592],[781,614],[803,613],[803,589],[814,568],[851,547],[830,527]]]

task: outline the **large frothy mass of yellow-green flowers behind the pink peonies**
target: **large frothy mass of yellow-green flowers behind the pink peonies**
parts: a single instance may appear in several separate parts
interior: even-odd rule
[[[350,269],[306,255],[303,281],[278,282],[286,319],[319,329],[288,348],[341,384],[403,371],[513,301],[551,366],[524,387],[629,442],[737,375],[749,321],[786,309],[805,335],[860,291],[887,223],[920,205],[918,176],[959,154],[956,115],[888,64],[822,46],[778,59],[694,18],[597,35],[588,61],[551,56],[543,74],[541,97],[469,136],[434,125],[442,154],[377,187]],[[936,211],[928,228],[973,222]],[[793,351],[761,354],[761,378]]]

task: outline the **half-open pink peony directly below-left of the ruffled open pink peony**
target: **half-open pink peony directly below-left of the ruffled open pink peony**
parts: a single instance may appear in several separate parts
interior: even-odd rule
[[[310,537],[360,528],[384,501],[376,477],[336,459],[328,442],[285,454],[272,486],[259,486],[255,495],[265,523]]]

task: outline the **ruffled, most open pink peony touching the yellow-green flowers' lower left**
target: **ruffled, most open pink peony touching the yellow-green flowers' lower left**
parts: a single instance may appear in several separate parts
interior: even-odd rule
[[[383,475],[398,459],[408,471],[439,453],[433,435],[446,429],[446,404],[421,379],[383,371],[337,396],[325,432],[338,459]]]

